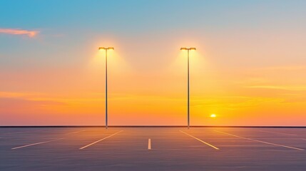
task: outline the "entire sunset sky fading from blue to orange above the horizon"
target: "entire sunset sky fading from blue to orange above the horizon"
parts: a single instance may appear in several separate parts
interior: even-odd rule
[[[306,125],[306,1],[0,0],[0,125]],[[210,118],[215,113],[216,118]]]

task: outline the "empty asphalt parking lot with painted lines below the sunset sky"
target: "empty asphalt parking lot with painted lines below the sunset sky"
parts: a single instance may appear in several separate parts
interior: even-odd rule
[[[306,170],[306,128],[0,128],[0,170]]]

